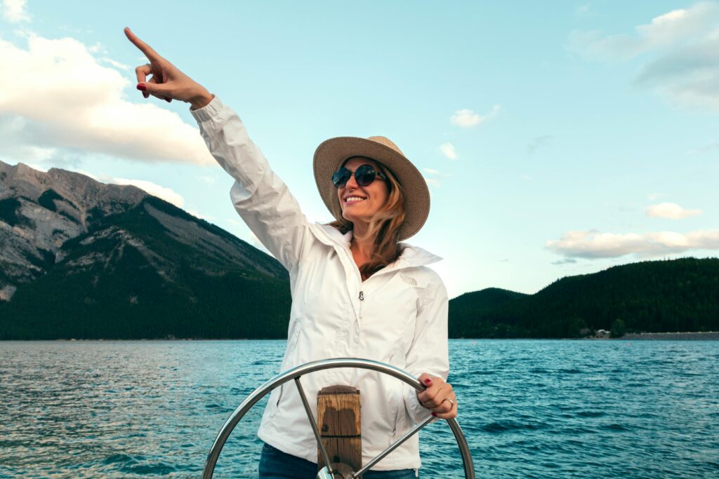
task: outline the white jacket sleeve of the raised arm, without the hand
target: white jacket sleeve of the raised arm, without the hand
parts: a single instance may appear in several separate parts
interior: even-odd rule
[[[235,180],[230,197],[237,213],[270,253],[291,271],[299,262],[309,234],[297,200],[270,169],[232,108],[215,96],[203,108],[190,111],[210,153]]]

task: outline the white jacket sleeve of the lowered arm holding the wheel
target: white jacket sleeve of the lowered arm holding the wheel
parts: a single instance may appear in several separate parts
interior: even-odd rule
[[[422,294],[417,309],[414,337],[407,353],[407,372],[415,377],[421,373],[449,376],[449,345],[447,342],[447,316],[449,298],[439,276]],[[427,419],[431,411],[417,399],[417,391],[406,385],[404,403],[414,422]]]

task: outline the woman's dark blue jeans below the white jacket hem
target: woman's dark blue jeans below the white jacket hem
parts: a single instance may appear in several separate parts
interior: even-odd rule
[[[260,479],[314,479],[317,465],[286,452],[282,452],[265,442],[260,456]],[[364,479],[415,479],[419,476],[414,469],[369,470],[362,475]]]

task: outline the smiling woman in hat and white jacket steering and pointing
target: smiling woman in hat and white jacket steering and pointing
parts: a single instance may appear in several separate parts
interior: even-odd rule
[[[230,195],[237,212],[290,272],[293,302],[282,370],[359,357],[403,368],[426,384],[418,394],[359,369],[303,376],[311,403],[324,386],[359,388],[364,463],[429,414],[456,417],[457,398],[445,382],[447,295],[426,267],[439,258],[399,243],[429,213],[429,191],[416,167],[381,136],[324,141],[314,156],[315,180],[336,221],[309,224],[239,117],[129,29],[125,34],[150,60],[136,69],[137,88],[145,98],[191,103],[211,154],[236,180]],[[273,391],[257,434],[265,441],[261,478],[314,477],[317,446],[294,387]],[[413,478],[419,466],[415,435],[365,478]]]

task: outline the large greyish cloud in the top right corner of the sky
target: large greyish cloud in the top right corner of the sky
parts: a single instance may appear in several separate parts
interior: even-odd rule
[[[641,57],[634,78],[685,106],[719,109],[719,2],[702,1],[638,25],[631,34],[573,32],[568,50],[589,60]]]

